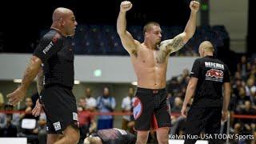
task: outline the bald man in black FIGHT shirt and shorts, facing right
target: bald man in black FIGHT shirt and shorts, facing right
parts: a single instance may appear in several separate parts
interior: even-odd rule
[[[74,85],[74,50],[71,46],[77,26],[72,10],[54,10],[50,31],[45,34],[34,50],[30,64],[22,78],[22,84],[8,94],[9,102],[16,105],[22,101],[30,83],[38,76],[40,101],[32,113],[43,110],[47,116],[47,143],[78,142],[78,114],[72,87]]]

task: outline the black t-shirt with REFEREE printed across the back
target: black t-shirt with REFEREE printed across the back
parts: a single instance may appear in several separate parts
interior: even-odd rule
[[[230,82],[229,70],[222,61],[212,56],[198,58],[190,77],[198,78],[192,106],[222,107],[222,84]]]

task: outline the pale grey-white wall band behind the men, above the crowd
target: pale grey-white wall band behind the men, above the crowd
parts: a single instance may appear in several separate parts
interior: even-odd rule
[[[0,54],[0,80],[22,78],[31,54]],[[167,79],[191,69],[195,58],[170,58]],[[136,77],[130,57],[75,56],[74,78],[82,82],[134,82]],[[102,70],[102,77],[94,77],[94,70]]]

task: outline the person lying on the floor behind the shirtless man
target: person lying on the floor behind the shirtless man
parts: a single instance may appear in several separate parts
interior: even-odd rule
[[[126,130],[105,129],[98,130],[86,138],[84,144],[134,144],[136,136]]]

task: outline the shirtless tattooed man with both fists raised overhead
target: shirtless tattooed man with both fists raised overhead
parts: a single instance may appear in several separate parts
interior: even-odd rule
[[[157,132],[159,144],[168,143],[170,113],[166,107],[166,70],[169,55],[189,41],[196,29],[196,13],[199,2],[190,2],[190,19],[182,34],[161,42],[162,30],[157,22],[148,22],[144,26],[144,42],[134,40],[126,30],[126,11],[132,7],[125,1],[120,5],[117,29],[122,46],[130,54],[134,71],[138,78],[138,89],[134,101],[134,129],[138,131],[138,144],[146,143],[150,124]],[[151,116],[152,118],[148,118]]]

